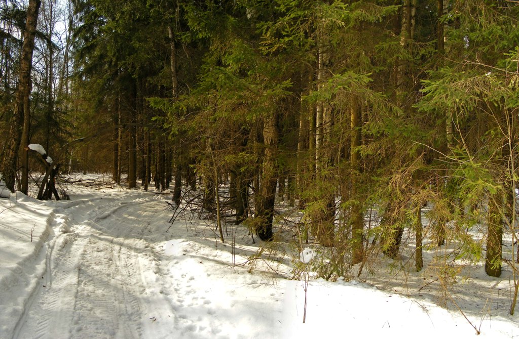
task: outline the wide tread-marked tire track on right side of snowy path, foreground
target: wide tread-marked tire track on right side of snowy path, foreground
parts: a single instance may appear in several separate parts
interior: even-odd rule
[[[141,336],[140,305],[134,286],[140,269],[120,246],[91,237],[81,258],[71,335],[95,338]],[[130,256],[130,258],[128,258]],[[121,279],[124,277],[125,279]]]

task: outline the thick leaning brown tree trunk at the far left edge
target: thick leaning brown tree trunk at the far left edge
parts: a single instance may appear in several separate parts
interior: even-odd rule
[[[2,166],[2,175],[6,183],[6,187],[12,192],[15,191],[15,178],[18,162],[18,151],[22,138],[22,126],[24,126],[25,112],[30,113],[29,107],[24,110],[24,98],[26,93],[30,91],[32,57],[34,51],[34,37],[36,34],[36,23],[38,20],[39,7],[42,4],[40,0],[29,0],[27,8],[27,20],[25,22],[25,30],[23,32],[23,46],[20,59],[20,76],[18,79],[18,88],[16,91],[15,109],[11,119],[9,133],[9,147],[5,163]],[[27,118],[29,119],[29,117]],[[29,134],[29,132],[26,132]],[[25,145],[24,145],[25,147]]]

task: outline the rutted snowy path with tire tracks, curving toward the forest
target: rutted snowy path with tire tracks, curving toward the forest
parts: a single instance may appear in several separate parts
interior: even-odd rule
[[[15,337],[142,337],[145,276],[158,272],[158,259],[141,237],[149,233],[146,218],[163,205],[153,194],[140,196],[89,199],[53,216],[72,232],[49,242],[46,274]]]

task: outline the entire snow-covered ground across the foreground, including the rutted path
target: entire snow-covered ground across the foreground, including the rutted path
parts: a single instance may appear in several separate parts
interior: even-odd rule
[[[235,236],[222,244],[207,221],[169,224],[171,196],[69,189],[70,201],[0,199],[2,339],[476,335],[459,310],[436,305],[426,292],[434,284],[418,290],[433,280],[426,273],[407,279],[421,279],[416,286],[310,281],[303,323],[304,282],[287,279],[283,258],[251,270],[245,262],[258,244],[244,227],[228,226]],[[484,287],[460,287],[480,291],[476,299],[458,300],[479,337],[519,338],[518,316],[507,315],[510,277],[479,279]],[[501,303],[484,300],[493,286],[503,287]]]

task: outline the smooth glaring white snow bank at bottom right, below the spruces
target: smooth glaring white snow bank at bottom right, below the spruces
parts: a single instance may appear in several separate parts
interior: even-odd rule
[[[431,302],[405,298],[358,281],[331,283],[311,281],[307,292],[306,323],[303,323],[305,291],[302,281],[286,284],[280,338],[352,337],[374,338],[506,338],[519,329],[507,319],[469,319],[459,312]],[[348,336],[349,336],[348,335]],[[344,336],[346,337],[346,336]]]

